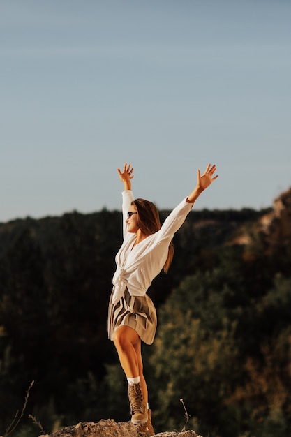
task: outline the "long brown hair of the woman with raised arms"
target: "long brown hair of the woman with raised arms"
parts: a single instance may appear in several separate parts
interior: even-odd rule
[[[160,216],[158,209],[153,202],[144,200],[141,198],[133,200],[131,205],[135,205],[137,208],[137,225],[144,235],[151,235],[161,229]],[[170,242],[169,251],[167,253],[167,260],[163,267],[165,273],[167,273],[170,265],[172,264],[174,256],[174,244]]]

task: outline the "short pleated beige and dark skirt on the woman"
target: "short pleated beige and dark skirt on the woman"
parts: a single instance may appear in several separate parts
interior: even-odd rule
[[[113,293],[112,293],[113,294]],[[146,344],[152,344],[156,334],[156,308],[148,295],[130,296],[128,289],[124,291],[117,304],[112,303],[110,296],[108,309],[108,337],[113,339],[114,331],[121,325],[130,326]]]

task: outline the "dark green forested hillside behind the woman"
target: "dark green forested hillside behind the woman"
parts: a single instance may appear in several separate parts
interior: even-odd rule
[[[174,236],[170,271],[149,289],[156,339],[143,346],[156,432],[181,431],[183,399],[186,429],[204,437],[291,436],[291,237],[262,230],[270,213],[193,210]],[[36,421],[50,434],[130,420],[107,339],[121,225],[107,209],[0,224],[0,435],[32,381],[11,436],[38,436]]]

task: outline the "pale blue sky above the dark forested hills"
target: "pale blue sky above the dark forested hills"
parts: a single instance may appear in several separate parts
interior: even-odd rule
[[[261,209],[291,186],[291,1],[1,0],[0,222],[171,209]]]

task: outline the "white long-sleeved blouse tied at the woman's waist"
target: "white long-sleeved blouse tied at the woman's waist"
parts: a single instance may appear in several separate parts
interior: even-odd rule
[[[193,203],[186,202],[186,198],[167,216],[160,230],[142,242],[135,244],[136,234],[128,232],[126,218],[133,202],[133,192],[126,190],[122,193],[122,214],[124,242],[115,257],[117,270],[114,273],[112,302],[117,304],[124,294],[126,287],[132,296],[144,296],[151,285],[151,281],[161,272],[169,244],[186,216],[191,211]]]

